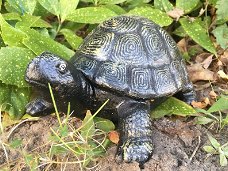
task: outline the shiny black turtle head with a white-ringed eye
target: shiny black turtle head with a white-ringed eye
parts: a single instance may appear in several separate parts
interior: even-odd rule
[[[25,80],[32,86],[40,88],[48,88],[50,83],[58,95],[69,96],[80,86],[75,80],[77,72],[79,71],[68,61],[44,52],[28,64]]]

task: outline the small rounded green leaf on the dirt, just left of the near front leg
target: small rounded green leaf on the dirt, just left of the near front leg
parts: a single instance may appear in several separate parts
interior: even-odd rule
[[[94,123],[96,128],[105,131],[110,132],[115,129],[115,125],[112,121],[100,117],[94,117]]]

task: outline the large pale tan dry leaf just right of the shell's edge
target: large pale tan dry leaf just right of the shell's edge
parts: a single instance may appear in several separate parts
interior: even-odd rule
[[[188,66],[189,78],[192,82],[199,80],[214,80],[214,72],[203,68],[199,63]]]

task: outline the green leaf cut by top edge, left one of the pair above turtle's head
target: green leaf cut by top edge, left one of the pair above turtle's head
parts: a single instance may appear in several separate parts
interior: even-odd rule
[[[37,0],[47,11],[59,16],[60,15],[60,4],[59,0]]]

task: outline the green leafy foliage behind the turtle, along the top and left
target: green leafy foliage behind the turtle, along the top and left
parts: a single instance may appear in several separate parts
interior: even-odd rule
[[[30,95],[28,62],[43,51],[69,59],[86,34],[113,16],[144,16],[216,55],[215,43],[228,47],[226,1],[0,0],[0,109],[20,118]]]

